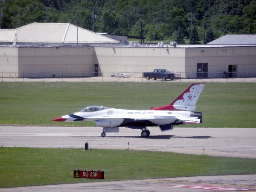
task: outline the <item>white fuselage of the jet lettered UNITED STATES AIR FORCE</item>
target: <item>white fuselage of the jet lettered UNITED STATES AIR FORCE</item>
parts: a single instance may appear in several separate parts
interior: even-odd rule
[[[71,115],[62,116],[66,118],[66,122],[78,121],[95,121],[97,126],[101,127],[116,127],[120,126],[124,119],[132,121],[149,120],[156,125],[171,124],[175,120],[191,120],[194,123],[199,123],[200,119],[191,118],[190,111],[165,111],[165,110],[125,110],[109,108],[106,110],[94,112],[76,112]],[[186,123],[183,123],[186,124]]]

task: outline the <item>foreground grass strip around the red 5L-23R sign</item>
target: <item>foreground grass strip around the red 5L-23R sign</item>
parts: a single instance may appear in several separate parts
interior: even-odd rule
[[[169,152],[0,147],[0,187],[95,182],[73,170],[102,170],[103,181],[256,174],[256,160]]]

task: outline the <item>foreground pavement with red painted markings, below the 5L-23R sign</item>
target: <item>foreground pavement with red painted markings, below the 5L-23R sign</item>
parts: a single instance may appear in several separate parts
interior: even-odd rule
[[[256,175],[94,182],[0,189],[0,192],[219,192],[256,191]]]

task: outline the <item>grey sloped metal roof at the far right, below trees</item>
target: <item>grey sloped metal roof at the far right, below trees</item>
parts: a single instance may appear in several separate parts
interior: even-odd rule
[[[256,35],[225,35],[207,45],[255,45]]]

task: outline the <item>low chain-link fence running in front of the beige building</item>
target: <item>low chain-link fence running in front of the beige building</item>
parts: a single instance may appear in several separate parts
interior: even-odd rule
[[[173,82],[256,82],[256,72],[173,72]],[[4,72],[2,82],[169,82],[146,80],[143,72]]]

